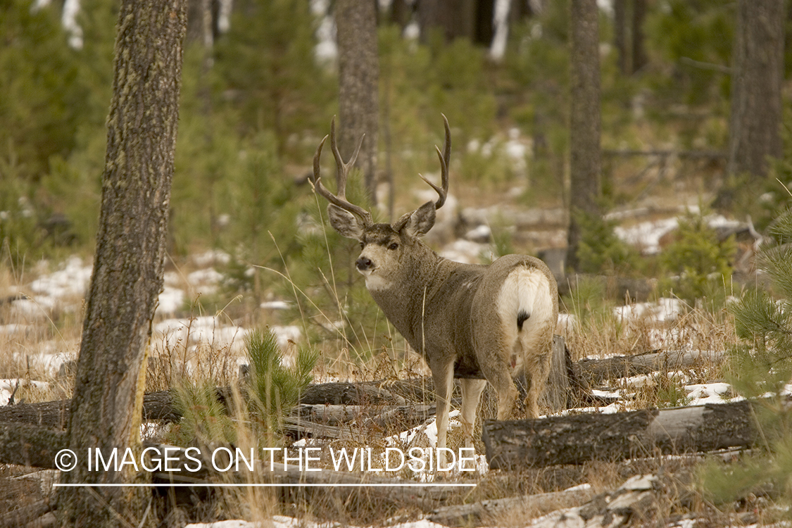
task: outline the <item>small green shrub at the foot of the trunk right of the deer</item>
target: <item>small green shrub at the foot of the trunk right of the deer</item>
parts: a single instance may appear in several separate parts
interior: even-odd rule
[[[576,220],[581,226],[581,272],[629,274],[638,267],[638,251],[616,236],[615,221],[585,211],[577,211]]]

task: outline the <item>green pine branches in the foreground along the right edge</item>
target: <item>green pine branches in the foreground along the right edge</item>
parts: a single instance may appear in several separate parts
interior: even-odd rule
[[[729,351],[729,382],[744,397],[756,398],[760,437],[756,449],[738,464],[711,462],[703,470],[710,499],[741,499],[758,488],[778,500],[792,496],[792,412],[786,384],[792,378],[792,211],[775,222],[775,244],[763,249],[760,266],[771,279],[770,292],[749,290],[731,306],[740,343]]]

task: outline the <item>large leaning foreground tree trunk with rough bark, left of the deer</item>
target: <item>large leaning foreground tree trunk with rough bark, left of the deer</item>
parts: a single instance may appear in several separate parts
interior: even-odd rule
[[[139,446],[144,357],[162,291],[173,150],[181,89],[185,0],[124,0],[102,175],[93,275],[71,401],[69,484],[123,484],[128,471],[89,471],[89,450],[107,459]],[[135,516],[128,488],[61,488],[64,526],[122,526]],[[137,522],[133,522],[135,526]]]

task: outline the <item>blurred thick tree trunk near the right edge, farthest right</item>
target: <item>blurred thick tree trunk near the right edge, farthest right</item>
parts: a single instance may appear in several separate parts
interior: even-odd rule
[[[748,175],[748,181],[756,183],[767,175],[767,158],[782,155],[783,4],[780,0],[737,2],[726,170],[730,181],[718,196],[718,207],[732,202],[737,192],[735,177]]]

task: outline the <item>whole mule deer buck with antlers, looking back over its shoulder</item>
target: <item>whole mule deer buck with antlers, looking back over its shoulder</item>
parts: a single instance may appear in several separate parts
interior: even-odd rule
[[[345,163],[336,144],[334,118],[330,146],[337,164],[337,192],[329,192],[319,175],[327,136],[314,155],[311,181],[315,191],[329,201],[333,229],[360,242],[356,267],[366,278],[371,297],[432,370],[437,447],[446,446],[453,378],[460,378],[465,446],[472,447],[476,408],[488,381],[497,393],[497,419],[507,420],[518,396],[512,378],[525,374],[527,415],[539,416],[538,400],[550,371],[558,320],[558,286],[546,264],[532,256],[501,256],[487,266],[460,264],[444,259],[421,241],[420,236],[432,229],[435,211],[443,207],[448,192],[451,130],[445,116],[443,120],[445,147],[443,152],[435,147],[440,187],[421,176],[439,198],[393,224],[374,223],[369,211],[347,201],[348,172],[363,138]],[[439,463],[444,464],[444,450],[438,454]]]

